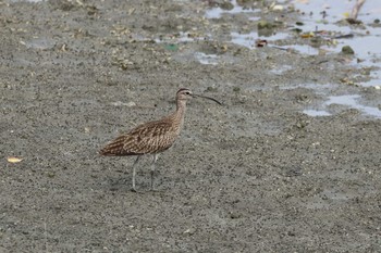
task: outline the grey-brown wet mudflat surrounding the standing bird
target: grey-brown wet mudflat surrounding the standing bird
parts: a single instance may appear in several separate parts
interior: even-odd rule
[[[230,30],[257,31],[247,15],[280,21],[278,33],[297,12],[206,18],[210,8],[1,3],[1,252],[381,251],[380,118],[337,104],[304,113],[343,93],[377,107],[380,90],[344,84],[369,75],[341,53],[230,42]],[[192,101],[158,191],[146,191],[145,157],[134,193],[134,159],[97,152],[172,112],[181,87],[224,105]]]

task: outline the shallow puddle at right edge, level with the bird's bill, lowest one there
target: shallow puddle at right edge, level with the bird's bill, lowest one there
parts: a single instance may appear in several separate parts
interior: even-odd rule
[[[309,116],[328,116],[332,115],[325,109],[332,104],[343,105],[348,109],[356,109],[366,115],[381,118],[381,111],[378,107],[367,106],[359,103],[359,94],[343,94],[343,96],[330,96],[328,101],[322,104],[322,110],[304,110],[303,113]]]

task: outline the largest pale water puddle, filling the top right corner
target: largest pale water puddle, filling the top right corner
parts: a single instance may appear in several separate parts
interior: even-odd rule
[[[357,18],[364,25],[340,25],[339,22],[348,17],[356,1],[294,1],[296,9],[305,13],[303,25],[298,26],[302,33],[311,33],[316,30],[323,30],[328,34],[328,39],[332,37],[331,46],[322,46],[327,51],[341,52],[344,46],[349,46],[355,51],[353,64],[359,67],[378,66],[381,67],[381,27],[374,23],[380,18],[381,5],[379,1],[368,0],[360,9]],[[340,35],[353,35],[352,37],[336,38]],[[308,51],[304,51],[308,53]],[[315,53],[312,53],[315,54]],[[357,63],[357,59],[361,62]],[[362,86],[380,85],[380,72],[374,76],[376,80],[372,83],[362,83]]]

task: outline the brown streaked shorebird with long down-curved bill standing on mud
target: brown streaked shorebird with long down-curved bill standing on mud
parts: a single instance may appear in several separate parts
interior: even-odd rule
[[[128,132],[118,137],[111,143],[107,144],[100,150],[101,155],[126,156],[136,155],[133,164],[133,188],[136,192],[135,177],[136,164],[142,155],[152,154],[153,162],[151,165],[151,190],[153,190],[153,173],[155,164],[158,160],[158,154],[168,150],[176,140],[184,124],[184,115],[186,109],[186,101],[190,98],[204,98],[214,101],[213,98],[195,94],[189,89],[182,88],[176,93],[176,111],[159,121],[148,122],[142,124]]]

